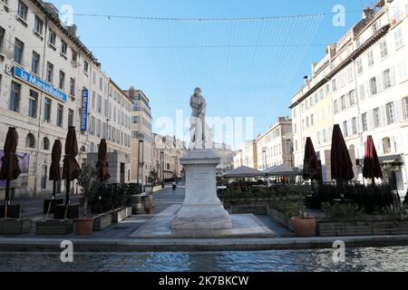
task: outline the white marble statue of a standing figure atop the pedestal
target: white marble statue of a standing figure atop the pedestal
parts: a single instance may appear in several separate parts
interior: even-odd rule
[[[194,94],[189,99],[189,106],[191,107],[189,149],[211,149],[211,132],[206,122],[207,102],[201,95],[200,88],[194,90]]]

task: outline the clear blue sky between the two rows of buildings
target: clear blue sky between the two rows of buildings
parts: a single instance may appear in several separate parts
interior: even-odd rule
[[[78,34],[123,89],[133,85],[151,99],[155,120],[189,114],[197,86],[208,115],[252,117],[253,133],[290,115],[290,98],[325,54],[362,15],[361,0],[53,0],[73,6]],[[345,27],[333,15],[269,21],[141,21],[75,14],[151,17],[271,17],[331,13],[345,6]],[[159,131],[160,128],[153,130]],[[239,144],[231,144],[237,148]]]

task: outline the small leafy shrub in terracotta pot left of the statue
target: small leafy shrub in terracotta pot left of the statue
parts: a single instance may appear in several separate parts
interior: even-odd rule
[[[88,198],[92,198],[97,189],[100,188],[96,167],[86,164],[81,170],[78,184],[83,189],[83,218],[75,218],[76,234],[86,236],[92,234],[93,218],[87,218]]]

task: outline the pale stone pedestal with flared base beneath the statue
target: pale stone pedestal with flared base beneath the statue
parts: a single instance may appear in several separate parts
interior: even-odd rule
[[[219,160],[214,150],[189,150],[180,159],[186,174],[186,198],[171,228],[232,228],[232,219],[217,197]]]

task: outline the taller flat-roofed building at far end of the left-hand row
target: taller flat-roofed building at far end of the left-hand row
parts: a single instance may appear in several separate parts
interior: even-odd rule
[[[125,93],[133,102],[131,106],[131,180],[146,185],[154,165],[150,100],[144,92],[135,90],[134,87]]]

